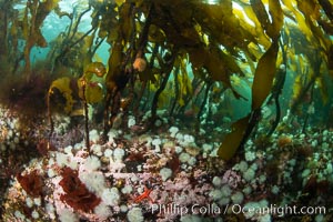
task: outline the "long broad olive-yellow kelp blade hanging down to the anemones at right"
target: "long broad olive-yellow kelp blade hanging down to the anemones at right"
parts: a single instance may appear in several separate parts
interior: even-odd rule
[[[264,8],[261,1],[252,2],[256,17],[265,14]],[[255,3],[255,4],[254,4]],[[281,6],[278,1],[269,1],[272,11],[270,11],[272,17],[272,22],[269,22],[263,16],[261,24],[266,30],[268,36],[272,39],[272,44],[266,50],[266,52],[260,58],[252,85],[252,105],[251,113],[243,119],[240,119],[232,125],[232,132],[228,134],[222,144],[219,148],[218,154],[223,160],[230,160],[235,151],[241,148],[246,139],[250,137],[251,132],[255,128],[259,121],[261,107],[268,99],[273,87],[273,80],[276,71],[276,58],[279,52],[279,38],[280,30],[282,28],[283,14],[280,13]],[[226,150],[226,148],[229,150]],[[224,153],[225,152],[225,153]]]

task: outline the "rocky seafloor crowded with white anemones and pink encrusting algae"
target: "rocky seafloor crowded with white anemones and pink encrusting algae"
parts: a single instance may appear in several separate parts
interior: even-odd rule
[[[104,143],[91,124],[88,151],[68,117],[51,143],[44,120],[0,117],[2,221],[333,221],[333,130],[278,128],[224,162],[216,129],[129,117]]]

